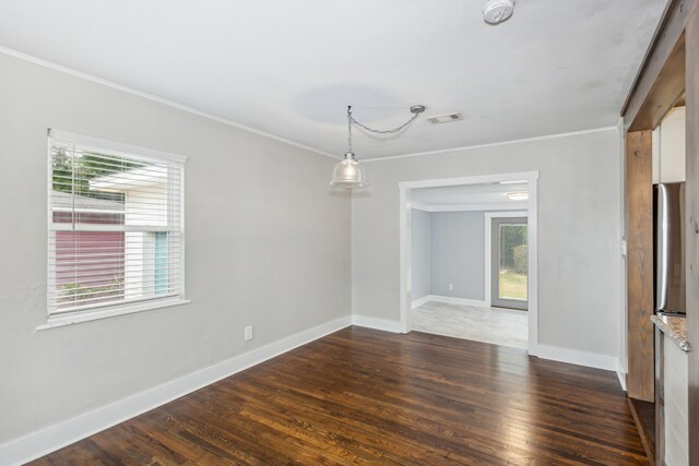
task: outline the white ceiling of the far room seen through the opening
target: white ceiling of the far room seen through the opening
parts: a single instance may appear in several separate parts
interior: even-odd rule
[[[507,193],[528,189],[526,181],[419,188],[411,190],[411,206],[431,212],[526,210],[526,201],[512,201]]]

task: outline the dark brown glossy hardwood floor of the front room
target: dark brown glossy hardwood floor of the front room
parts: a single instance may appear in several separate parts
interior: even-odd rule
[[[648,461],[613,372],[354,326],[33,464],[354,463]]]

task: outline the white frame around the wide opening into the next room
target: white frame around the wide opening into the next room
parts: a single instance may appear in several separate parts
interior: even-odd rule
[[[435,180],[403,181],[399,183],[400,192],[400,311],[401,332],[408,333],[411,324],[411,292],[412,292],[412,254],[411,254],[411,192],[418,188],[439,188],[460,184],[482,184],[501,181],[526,180],[529,200],[526,201],[528,231],[529,231],[529,353],[536,354],[538,346],[538,278],[537,278],[537,181],[538,171],[521,171],[514,174],[483,175],[476,177],[442,178]],[[486,261],[488,263],[489,261]],[[486,297],[489,294],[486,294]]]

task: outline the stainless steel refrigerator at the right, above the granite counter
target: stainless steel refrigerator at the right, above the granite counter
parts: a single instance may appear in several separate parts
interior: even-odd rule
[[[654,186],[655,312],[686,314],[685,183]]]

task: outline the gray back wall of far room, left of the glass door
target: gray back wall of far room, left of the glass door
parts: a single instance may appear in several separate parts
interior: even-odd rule
[[[484,251],[483,212],[431,213],[430,295],[484,300]]]

